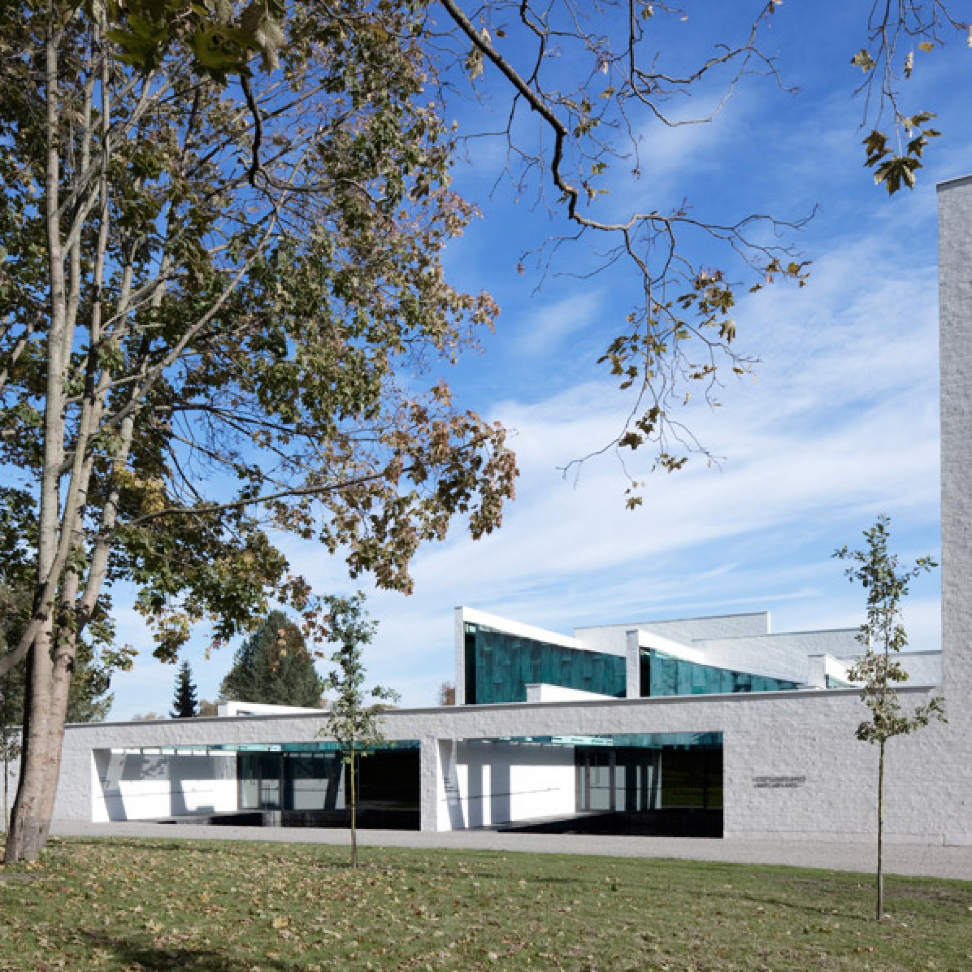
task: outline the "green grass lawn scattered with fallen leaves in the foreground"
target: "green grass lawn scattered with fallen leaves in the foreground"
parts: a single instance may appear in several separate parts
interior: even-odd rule
[[[53,840],[0,866],[0,970],[972,969],[972,883],[781,867]]]

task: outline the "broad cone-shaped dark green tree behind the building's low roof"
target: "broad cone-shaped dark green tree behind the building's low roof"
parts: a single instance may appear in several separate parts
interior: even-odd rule
[[[260,628],[243,642],[220,686],[220,695],[235,702],[272,706],[321,706],[324,679],[295,623],[271,611]]]

